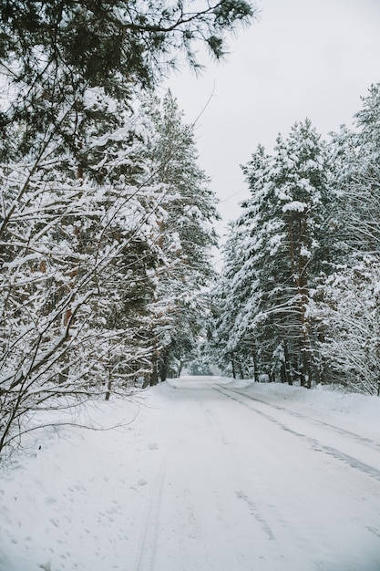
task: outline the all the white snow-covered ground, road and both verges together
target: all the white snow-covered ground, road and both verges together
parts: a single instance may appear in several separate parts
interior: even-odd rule
[[[1,571],[379,571],[380,399],[218,377],[93,407],[0,472]]]

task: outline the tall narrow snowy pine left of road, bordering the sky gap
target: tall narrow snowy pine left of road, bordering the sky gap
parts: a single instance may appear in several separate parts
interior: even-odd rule
[[[159,105],[149,101],[157,139],[150,158],[153,180],[162,184],[156,223],[160,264],[156,270],[151,332],[156,351],[153,382],[178,374],[191,359],[206,311],[202,290],[214,277],[211,248],[217,244],[212,223],[218,218],[210,181],[198,165],[193,128],[183,123],[177,101],[168,92]]]

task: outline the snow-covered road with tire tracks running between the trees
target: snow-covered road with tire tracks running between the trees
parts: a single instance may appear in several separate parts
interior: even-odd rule
[[[380,570],[378,441],[212,377],[166,396],[136,571]]]

